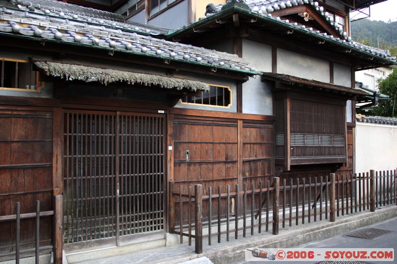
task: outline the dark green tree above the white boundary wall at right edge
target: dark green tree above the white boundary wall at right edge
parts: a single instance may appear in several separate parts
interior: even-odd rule
[[[379,92],[388,95],[390,100],[380,101],[373,107],[372,112],[379,116],[397,116],[397,70],[393,71],[386,79],[378,80]]]

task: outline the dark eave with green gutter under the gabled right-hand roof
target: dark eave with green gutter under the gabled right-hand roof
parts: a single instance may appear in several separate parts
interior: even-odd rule
[[[236,15],[239,17],[239,27],[235,27]],[[283,37],[287,41],[287,38],[292,37],[298,38],[303,44],[310,43],[310,45],[312,45],[312,47],[310,47],[311,51],[323,51],[324,53],[332,51],[338,53],[342,57],[348,57],[348,60],[351,61],[352,67],[355,70],[397,64],[395,60],[392,60],[395,58],[388,57],[386,52],[379,51],[375,48],[371,49],[371,47],[356,43],[347,36],[345,39],[334,38],[329,34],[316,32],[311,28],[308,29],[304,26],[292,24],[285,20],[283,21],[279,17],[262,15],[238,6],[224,9],[198,22],[189,24],[180,30],[170,31],[168,38],[173,41],[187,41],[190,38],[204,36],[217,27],[225,26],[225,24],[228,24],[229,28],[235,28],[234,31],[237,32],[235,37],[242,38],[247,38],[247,36],[250,35],[248,32],[253,28],[255,28],[255,30],[263,28],[264,32],[270,32],[270,34],[276,31],[283,32]],[[214,33],[214,35],[216,35],[216,33]],[[286,37],[287,35],[288,37]]]

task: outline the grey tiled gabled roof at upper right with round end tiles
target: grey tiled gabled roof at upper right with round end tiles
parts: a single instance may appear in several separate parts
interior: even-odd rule
[[[218,14],[222,11],[225,11],[228,6],[233,7],[233,2],[238,0],[232,0],[232,2],[226,4],[220,4],[217,6],[218,12],[206,14],[206,18],[199,20],[199,22],[194,22],[190,25],[192,27],[197,23],[202,23],[205,19],[211,19],[212,15]],[[299,30],[306,31],[306,33],[313,34],[313,36],[318,36],[322,39],[330,39],[331,41],[336,41],[338,45],[345,46],[346,48],[355,48],[367,53],[368,55],[377,55],[383,58],[386,58],[391,61],[396,61],[396,57],[391,56],[389,51],[380,50],[374,47],[366,46],[361,43],[355,42],[351,39],[351,37],[347,36],[346,32],[343,32],[343,27],[338,23],[333,21],[333,18],[329,15],[328,12],[324,12],[324,7],[321,6],[321,3],[313,0],[246,0],[246,4],[249,7],[249,13],[257,14],[260,17],[263,17],[266,20],[276,20],[277,22],[281,22],[288,27],[297,28]],[[325,32],[320,32],[318,30],[314,30],[311,27],[306,27],[305,25],[300,25],[296,22],[290,22],[287,19],[281,19],[280,17],[273,17],[271,12],[274,10],[279,10],[283,8],[290,8],[297,5],[312,5],[317,12],[319,12],[330,24],[335,28],[336,31],[340,33],[339,36],[332,36]],[[239,4],[241,5],[241,3]],[[186,26],[185,26],[186,27]],[[183,30],[183,29],[181,29]],[[178,31],[176,31],[178,32]],[[173,32],[175,33],[175,32]]]

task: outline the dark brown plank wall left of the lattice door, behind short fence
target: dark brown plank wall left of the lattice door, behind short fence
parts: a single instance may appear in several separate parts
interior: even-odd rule
[[[53,210],[53,112],[45,108],[0,108],[0,216]],[[53,217],[41,222],[41,245],[52,243]],[[21,220],[21,249],[32,248],[35,220]],[[0,222],[0,254],[14,250],[15,222]]]

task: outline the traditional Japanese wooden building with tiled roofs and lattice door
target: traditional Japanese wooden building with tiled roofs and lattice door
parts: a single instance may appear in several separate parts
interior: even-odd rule
[[[169,181],[354,172],[354,102],[368,96],[354,72],[395,63],[334,22],[324,6],[346,21],[343,1],[232,0],[171,31],[138,12],[0,2],[0,219],[40,200],[63,220],[61,238],[43,218],[41,245],[58,248],[164,239]],[[159,20],[191,1],[166,2]],[[16,227],[0,228],[6,259]]]

